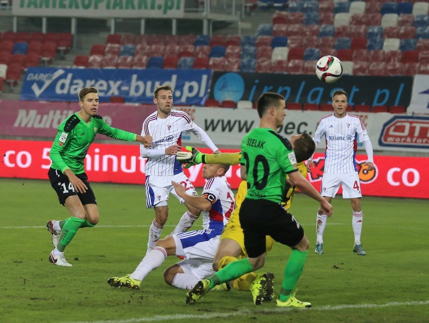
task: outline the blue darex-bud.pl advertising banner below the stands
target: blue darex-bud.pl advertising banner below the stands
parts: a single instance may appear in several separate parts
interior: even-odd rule
[[[84,87],[96,87],[100,101],[121,96],[126,102],[153,104],[156,86],[170,84],[176,104],[201,105],[208,91],[210,70],[29,68],[21,100],[68,101],[78,99]]]

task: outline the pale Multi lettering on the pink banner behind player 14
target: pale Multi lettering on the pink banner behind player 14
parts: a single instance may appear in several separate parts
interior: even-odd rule
[[[36,109],[19,109],[17,118],[14,122],[15,128],[58,128],[62,121],[69,115],[72,115],[74,110],[50,110],[48,113],[38,113]],[[103,116],[104,121],[112,124],[112,118]]]

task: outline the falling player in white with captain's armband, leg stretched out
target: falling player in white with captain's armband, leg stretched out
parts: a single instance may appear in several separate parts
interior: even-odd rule
[[[173,255],[184,260],[165,270],[164,279],[169,285],[189,289],[198,280],[214,274],[212,263],[219,237],[235,206],[234,193],[225,177],[228,169],[228,165],[204,165],[202,176],[207,182],[202,196],[189,195],[182,185],[172,182],[177,195],[193,207],[203,210],[203,229],[180,232],[158,240],[133,273],[112,277],[107,282],[114,287],[139,289],[141,281],[160,267],[167,256]]]

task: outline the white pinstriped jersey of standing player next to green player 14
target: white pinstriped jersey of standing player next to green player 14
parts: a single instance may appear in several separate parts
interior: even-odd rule
[[[171,110],[170,115],[161,119],[157,117],[158,110],[149,115],[143,122],[141,135],[152,136],[152,147],[145,148],[140,143],[140,151],[147,149],[162,150],[172,145],[182,144],[182,132],[192,131],[196,126],[191,117],[185,112]],[[158,176],[171,176],[183,172],[182,165],[177,162],[176,156],[166,155],[164,152],[161,156],[148,158],[145,174]]]

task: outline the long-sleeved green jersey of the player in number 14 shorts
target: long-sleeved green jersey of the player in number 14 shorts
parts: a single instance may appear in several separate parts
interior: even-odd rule
[[[70,169],[75,174],[84,173],[84,159],[97,133],[125,141],[134,141],[137,136],[111,127],[98,114],[86,123],[76,112],[58,126],[58,133],[49,152],[51,168],[61,172]]]

